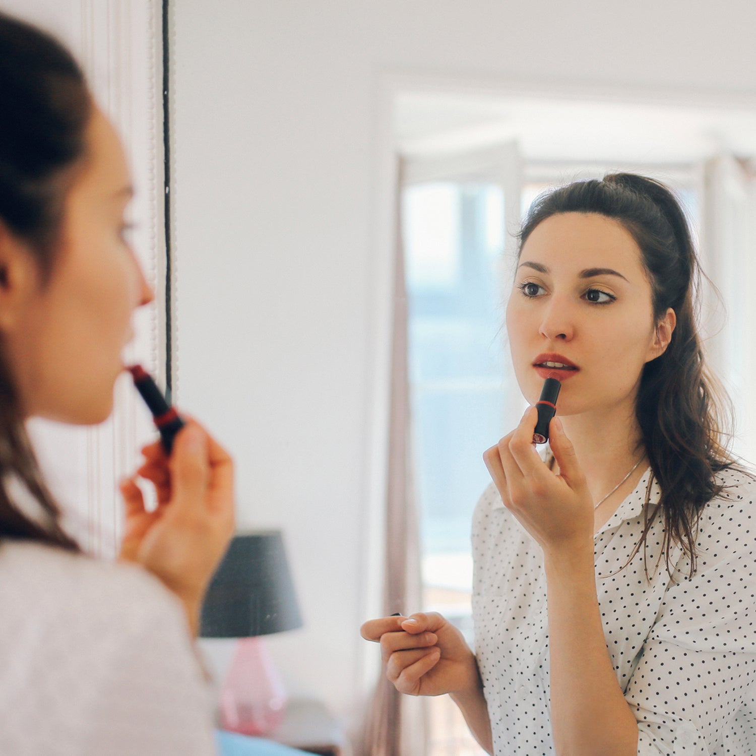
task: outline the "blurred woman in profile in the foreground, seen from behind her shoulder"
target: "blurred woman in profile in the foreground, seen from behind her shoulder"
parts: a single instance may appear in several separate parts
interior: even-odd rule
[[[194,652],[234,527],[228,454],[197,423],[122,482],[117,564],[61,528],[24,421],[105,420],[130,319],[152,299],[129,243],[121,144],[70,54],[0,14],[0,753],[211,754]],[[132,562],[129,564],[128,562]]]

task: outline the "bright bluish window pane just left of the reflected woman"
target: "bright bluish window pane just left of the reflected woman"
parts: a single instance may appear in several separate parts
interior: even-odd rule
[[[482,453],[503,433],[503,193],[421,184],[403,210],[423,609],[472,645],[470,523],[489,480]],[[430,707],[431,756],[482,754],[451,701]]]

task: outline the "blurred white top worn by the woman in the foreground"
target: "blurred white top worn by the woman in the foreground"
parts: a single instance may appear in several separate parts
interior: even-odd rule
[[[156,578],[5,541],[0,606],[0,752],[110,753],[116,733],[119,753],[212,752],[209,690]]]

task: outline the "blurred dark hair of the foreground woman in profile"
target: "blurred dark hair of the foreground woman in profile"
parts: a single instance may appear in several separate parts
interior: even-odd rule
[[[91,107],[82,71],[66,48],[0,13],[0,223],[26,242],[43,283],[54,267],[67,188],[85,154]],[[78,550],[42,479],[6,351],[0,334],[0,539]],[[41,519],[14,502],[12,481],[39,503]]]

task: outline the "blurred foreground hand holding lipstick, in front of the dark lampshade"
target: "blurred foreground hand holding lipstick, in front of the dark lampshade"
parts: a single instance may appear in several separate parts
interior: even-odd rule
[[[137,473],[155,486],[157,507],[145,510],[136,476],[121,483],[120,558],[142,565],[178,596],[196,635],[205,591],[234,533],[234,463],[194,420],[176,435],[170,457],[160,442],[142,454]]]

